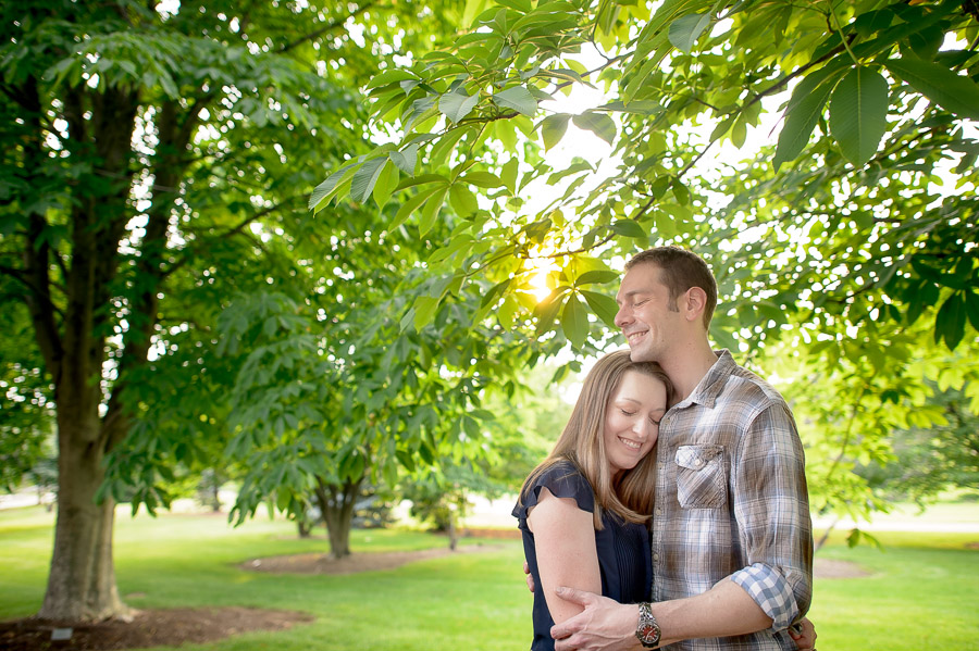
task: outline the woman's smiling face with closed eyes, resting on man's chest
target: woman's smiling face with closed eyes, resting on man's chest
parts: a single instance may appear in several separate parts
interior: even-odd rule
[[[605,453],[612,475],[632,468],[659,437],[667,410],[666,386],[653,376],[628,371],[605,409]]]

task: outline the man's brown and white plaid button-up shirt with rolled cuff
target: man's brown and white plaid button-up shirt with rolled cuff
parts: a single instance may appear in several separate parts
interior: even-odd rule
[[[754,635],[669,649],[795,650],[785,629],[813,590],[802,441],[782,397],[726,350],[659,425],[650,547],[655,601],[730,579],[773,621]]]

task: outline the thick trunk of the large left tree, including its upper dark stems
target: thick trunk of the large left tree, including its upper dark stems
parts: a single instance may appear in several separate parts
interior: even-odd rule
[[[100,410],[119,241],[131,212],[131,141],[139,103],[138,93],[124,88],[100,92],[70,88],[63,101],[73,153],[90,149],[99,160],[100,172],[115,180],[101,191],[84,185],[78,190],[70,214],[71,252],[63,258],[53,249],[36,246],[45,241],[41,235],[47,221],[44,213],[30,215],[25,268],[36,280],[28,304],[38,346],[54,383],[59,455],[54,549],[38,616],[94,622],[129,614],[115,586],[114,502],[106,499],[96,503],[96,494],[104,479],[104,455],[124,438],[128,427],[117,408],[109,405],[106,418],[100,417]],[[55,263],[64,270],[66,300],[61,310],[55,310],[50,296],[48,270]],[[131,320],[147,314],[151,326],[156,313],[140,313],[138,308],[131,308]],[[55,325],[59,316],[60,326]],[[126,362],[121,360],[120,366]]]

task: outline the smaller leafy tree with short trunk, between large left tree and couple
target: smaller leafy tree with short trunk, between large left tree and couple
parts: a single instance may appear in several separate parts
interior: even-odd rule
[[[450,227],[448,213],[435,226]],[[493,414],[483,403],[495,391],[512,393],[512,376],[548,345],[470,321],[483,288],[450,288],[425,274],[424,238],[337,236],[325,249],[297,245],[300,255],[305,247],[318,253],[306,265],[305,296],[241,297],[221,329],[225,350],[251,346],[231,410],[228,455],[249,468],[235,506],[239,521],[270,498],[302,513],[312,491],[331,553],[340,558],[350,553],[364,483],[394,488],[400,472],[488,465],[494,443],[484,422]],[[391,250],[398,255],[379,264]],[[414,297],[441,291],[456,291],[458,300],[418,331],[406,328],[421,318]]]

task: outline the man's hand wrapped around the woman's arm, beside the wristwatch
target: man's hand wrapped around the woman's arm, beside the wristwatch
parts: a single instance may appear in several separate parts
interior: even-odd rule
[[[594,592],[558,588],[557,596],[584,606],[584,612],[554,626],[556,651],[622,651],[639,646],[639,606],[622,604]]]

